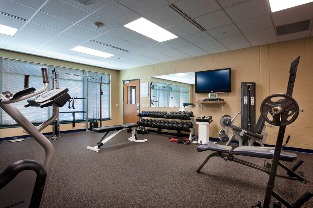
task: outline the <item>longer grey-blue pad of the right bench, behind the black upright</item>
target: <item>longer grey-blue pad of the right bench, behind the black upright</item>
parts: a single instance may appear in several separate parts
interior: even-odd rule
[[[272,159],[274,156],[273,149],[265,149],[260,147],[253,146],[241,146],[237,147],[233,150],[234,155],[244,155],[249,157],[260,157],[260,158],[268,158]],[[297,155],[291,152],[280,152],[280,160],[283,161],[294,161],[297,160]]]

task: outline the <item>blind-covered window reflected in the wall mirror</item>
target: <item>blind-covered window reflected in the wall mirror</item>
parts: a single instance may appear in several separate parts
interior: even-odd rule
[[[183,108],[183,103],[189,103],[189,87],[169,85],[160,82],[151,82],[154,90],[151,89],[151,100],[153,107]]]

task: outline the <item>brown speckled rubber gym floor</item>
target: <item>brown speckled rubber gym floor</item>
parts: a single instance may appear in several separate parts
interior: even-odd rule
[[[69,133],[51,141],[54,164],[44,207],[251,207],[264,200],[266,173],[213,157],[201,173],[194,173],[210,153],[196,146],[170,142],[168,135],[138,135],[144,143],[128,141],[122,131],[93,152],[103,134]],[[313,181],[312,154],[297,153],[299,168]],[[264,160],[238,156],[263,165]],[[32,138],[0,144],[0,171],[20,159],[44,160],[44,150]],[[283,162],[291,167],[294,163]],[[285,172],[279,169],[278,175]],[[277,177],[275,188],[296,201],[313,183]],[[311,198],[303,207],[313,207]]]

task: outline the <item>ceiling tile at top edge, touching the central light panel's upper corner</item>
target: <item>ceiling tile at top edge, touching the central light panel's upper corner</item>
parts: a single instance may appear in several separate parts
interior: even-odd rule
[[[131,10],[145,15],[147,13],[153,12],[161,7],[169,5],[165,0],[116,0],[117,2],[123,4],[124,6],[130,8]]]

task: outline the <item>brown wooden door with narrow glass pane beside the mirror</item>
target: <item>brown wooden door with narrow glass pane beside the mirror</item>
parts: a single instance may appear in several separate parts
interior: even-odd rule
[[[139,92],[139,80],[124,81],[124,123],[136,123],[139,120]]]

